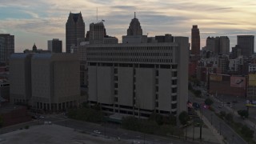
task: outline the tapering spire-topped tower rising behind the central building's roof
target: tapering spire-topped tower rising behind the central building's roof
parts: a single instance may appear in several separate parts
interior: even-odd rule
[[[136,13],[134,12],[134,19],[131,20],[130,26],[127,30],[127,35],[142,35],[141,23],[136,18]]]

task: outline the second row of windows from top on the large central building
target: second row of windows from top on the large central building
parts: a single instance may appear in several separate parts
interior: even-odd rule
[[[104,53],[104,52],[94,52],[94,53],[88,53],[87,56],[170,56],[171,53]]]

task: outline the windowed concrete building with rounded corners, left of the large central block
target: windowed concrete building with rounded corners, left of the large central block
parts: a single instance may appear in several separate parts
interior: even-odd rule
[[[10,58],[10,102],[42,110],[78,106],[79,61],[76,54],[13,54]]]

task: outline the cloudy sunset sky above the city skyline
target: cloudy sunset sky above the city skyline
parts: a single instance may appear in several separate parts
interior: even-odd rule
[[[172,34],[191,37],[191,28],[198,25],[201,47],[206,38],[228,36],[230,50],[237,35],[256,35],[255,0],[0,0],[0,34],[15,36],[15,52],[47,49],[47,41],[62,40],[66,50],[66,21],[70,12],[81,11],[86,31],[91,22],[104,19],[106,33],[122,42],[130,21],[136,17],[143,34]],[[255,49],[255,48],[254,48]],[[256,51],[256,50],[255,50]]]

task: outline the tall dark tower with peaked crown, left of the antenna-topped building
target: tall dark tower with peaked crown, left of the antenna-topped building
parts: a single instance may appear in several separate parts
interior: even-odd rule
[[[81,12],[70,13],[66,22],[66,53],[70,53],[70,46],[77,46],[78,38],[85,38],[85,22]]]

